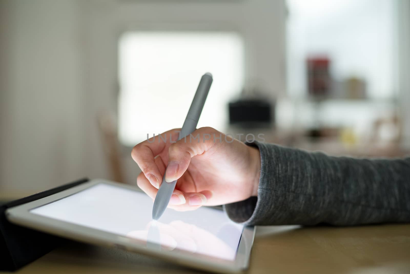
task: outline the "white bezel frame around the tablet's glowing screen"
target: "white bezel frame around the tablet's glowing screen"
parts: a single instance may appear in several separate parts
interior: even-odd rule
[[[178,252],[169,252],[149,249],[146,246],[138,244],[138,242],[129,237],[89,228],[86,226],[80,226],[74,223],[68,223],[66,221],[52,219],[30,212],[30,210],[36,207],[41,207],[43,205],[53,203],[57,200],[63,199],[67,196],[73,195],[77,192],[101,183],[134,191],[140,191],[137,187],[130,185],[110,182],[107,180],[91,180],[84,184],[80,184],[70,189],[52,194],[45,198],[25,203],[23,205],[18,205],[16,207],[11,207],[6,211],[7,219],[9,219],[9,221],[11,221],[12,223],[16,223],[29,228],[34,228],[36,230],[57,236],[91,244],[98,244],[101,246],[117,247],[136,253],[143,253],[157,258],[162,258],[170,262],[176,262],[180,265],[185,265],[188,267],[220,273],[240,273],[248,268],[253,239],[255,237],[254,227],[244,227],[241,239],[239,241],[236,258],[235,260],[230,261],[197,253],[189,253],[182,250],[178,250]]]

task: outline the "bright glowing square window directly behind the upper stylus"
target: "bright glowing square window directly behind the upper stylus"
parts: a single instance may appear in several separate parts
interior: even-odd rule
[[[244,45],[235,32],[126,32],[119,41],[118,128],[135,145],[180,128],[205,72],[214,81],[198,127],[223,131],[243,86]]]

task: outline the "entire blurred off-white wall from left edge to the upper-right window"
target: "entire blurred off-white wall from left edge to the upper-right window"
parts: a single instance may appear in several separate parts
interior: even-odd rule
[[[96,115],[116,111],[117,39],[125,30],[236,29],[246,40],[246,81],[285,90],[282,0],[0,5],[0,191],[110,177]],[[124,165],[127,182],[135,182],[139,169],[129,151]]]

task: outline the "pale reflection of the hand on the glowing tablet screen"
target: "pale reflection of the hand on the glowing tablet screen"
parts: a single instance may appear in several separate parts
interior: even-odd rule
[[[182,221],[169,224],[150,221],[146,230],[133,230],[128,237],[141,241],[148,248],[171,251],[182,249],[191,253],[201,253],[232,260],[233,250],[212,233]],[[217,253],[217,254],[216,254]]]

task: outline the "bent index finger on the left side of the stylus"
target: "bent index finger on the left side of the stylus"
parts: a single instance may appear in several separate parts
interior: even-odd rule
[[[138,164],[145,177],[150,183],[159,188],[162,174],[155,163],[155,156],[160,154],[171,142],[175,142],[179,136],[179,129],[171,129],[159,136],[153,136],[144,142],[134,146],[131,157]]]

